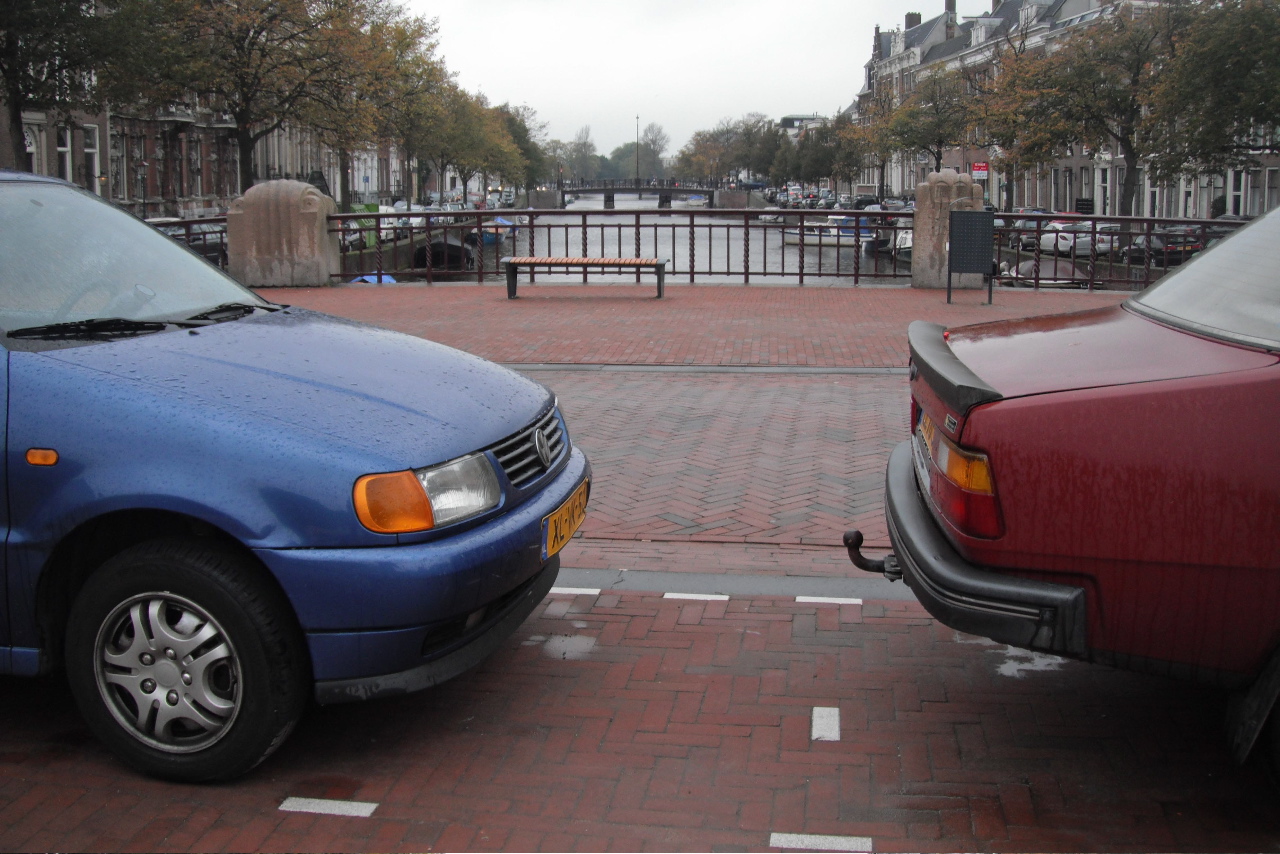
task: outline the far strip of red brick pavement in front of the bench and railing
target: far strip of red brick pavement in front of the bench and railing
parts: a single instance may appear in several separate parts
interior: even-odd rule
[[[504,286],[289,288],[264,296],[499,362],[905,366],[911,320],[965,325],[1114,305],[1126,294],[905,287]]]

